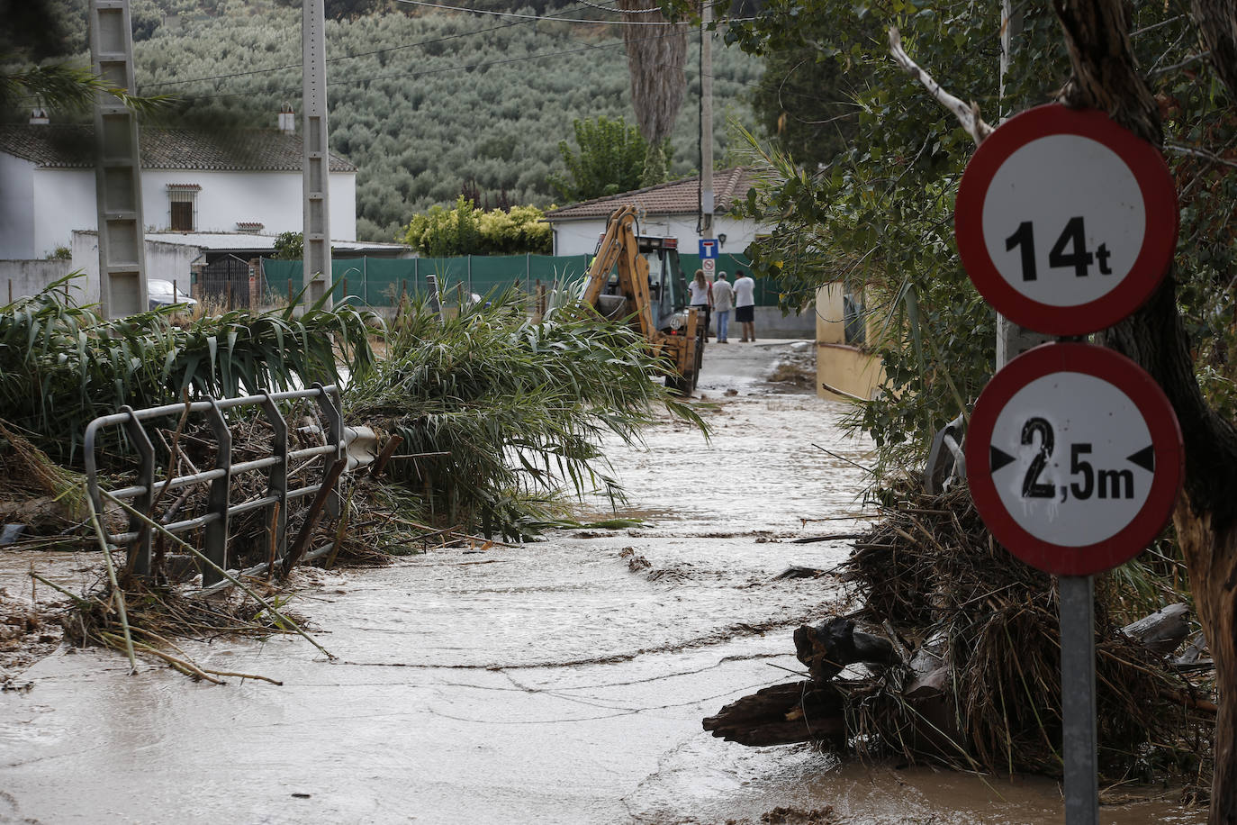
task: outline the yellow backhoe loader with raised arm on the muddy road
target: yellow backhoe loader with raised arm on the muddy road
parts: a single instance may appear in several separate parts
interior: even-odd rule
[[[704,318],[687,306],[678,239],[637,235],[635,224],[635,207],[610,215],[589,266],[584,301],[606,318],[628,319],[673,365],[666,386],[690,395],[700,380]]]

